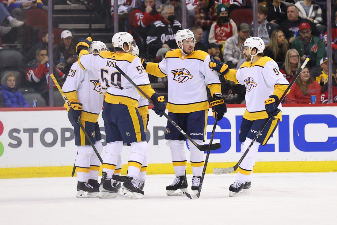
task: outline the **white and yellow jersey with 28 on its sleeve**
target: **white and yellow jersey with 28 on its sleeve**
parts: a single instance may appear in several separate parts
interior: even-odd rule
[[[78,62],[75,62],[69,70],[62,91],[70,103],[80,102],[83,104],[82,120],[97,122],[104,98],[98,70],[83,70]],[[66,104],[65,107],[68,108]]]

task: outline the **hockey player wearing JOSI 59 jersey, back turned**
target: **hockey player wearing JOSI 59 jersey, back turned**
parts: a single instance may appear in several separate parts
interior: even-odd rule
[[[81,38],[76,46],[79,65],[83,69],[100,69],[102,89],[106,89],[102,117],[106,135],[105,155],[99,197],[116,197],[118,189],[113,186],[112,175],[116,169],[123,142],[130,143],[128,175],[123,183],[120,195],[128,198],[142,198],[136,179],[142,168],[147,151],[146,134],[143,120],[137,109],[140,93],[115,68],[122,69],[155,102],[153,110],[162,116],[165,110],[164,97],[151,88],[149,78],[140,59],[130,53],[135,41],[126,32],[116,33],[112,38],[116,53],[102,52],[98,57],[88,54],[91,38]]]

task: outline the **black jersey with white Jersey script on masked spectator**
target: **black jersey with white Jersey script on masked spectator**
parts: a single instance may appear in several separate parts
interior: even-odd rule
[[[167,44],[171,49],[177,48],[176,33],[181,30],[181,23],[177,20],[173,24],[166,24],[164,21],[156,21],[151,25],[146,38],[146,43],[151,54],[156,54],[163,44]]]

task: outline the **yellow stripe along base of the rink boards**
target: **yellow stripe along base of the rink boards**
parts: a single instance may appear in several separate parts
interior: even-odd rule
[[[231,167],[235,164],[235,162],[208,163],[206,173],[212,173],[213,168]],[[0,179],[71,176],[72,168],[73,166],[0,168]],[[122,175],[126,175],[126,171],[127,164],[123,165]],[[331,171],[337,172],[337,161],[256,162],[253,169],[254,173]],[[101,172],[102,165],[99,167],[99,175]],[[186,173],[192,174],[190,163],[187,163]],[[172,163],[149,164],[147,174],[174,174],[173,165]]]

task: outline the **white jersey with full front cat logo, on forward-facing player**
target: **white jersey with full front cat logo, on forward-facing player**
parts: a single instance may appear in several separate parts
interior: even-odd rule
[[[221,94],[218,74],[208,66],[210,56],[204,51],[193,51],[182,56],[180,49],[170,50],[159,63],[148,63],[146,71],[158,77],[167,76],[169,112],[189,113],[209,108],[206,85],[211,94]]]

